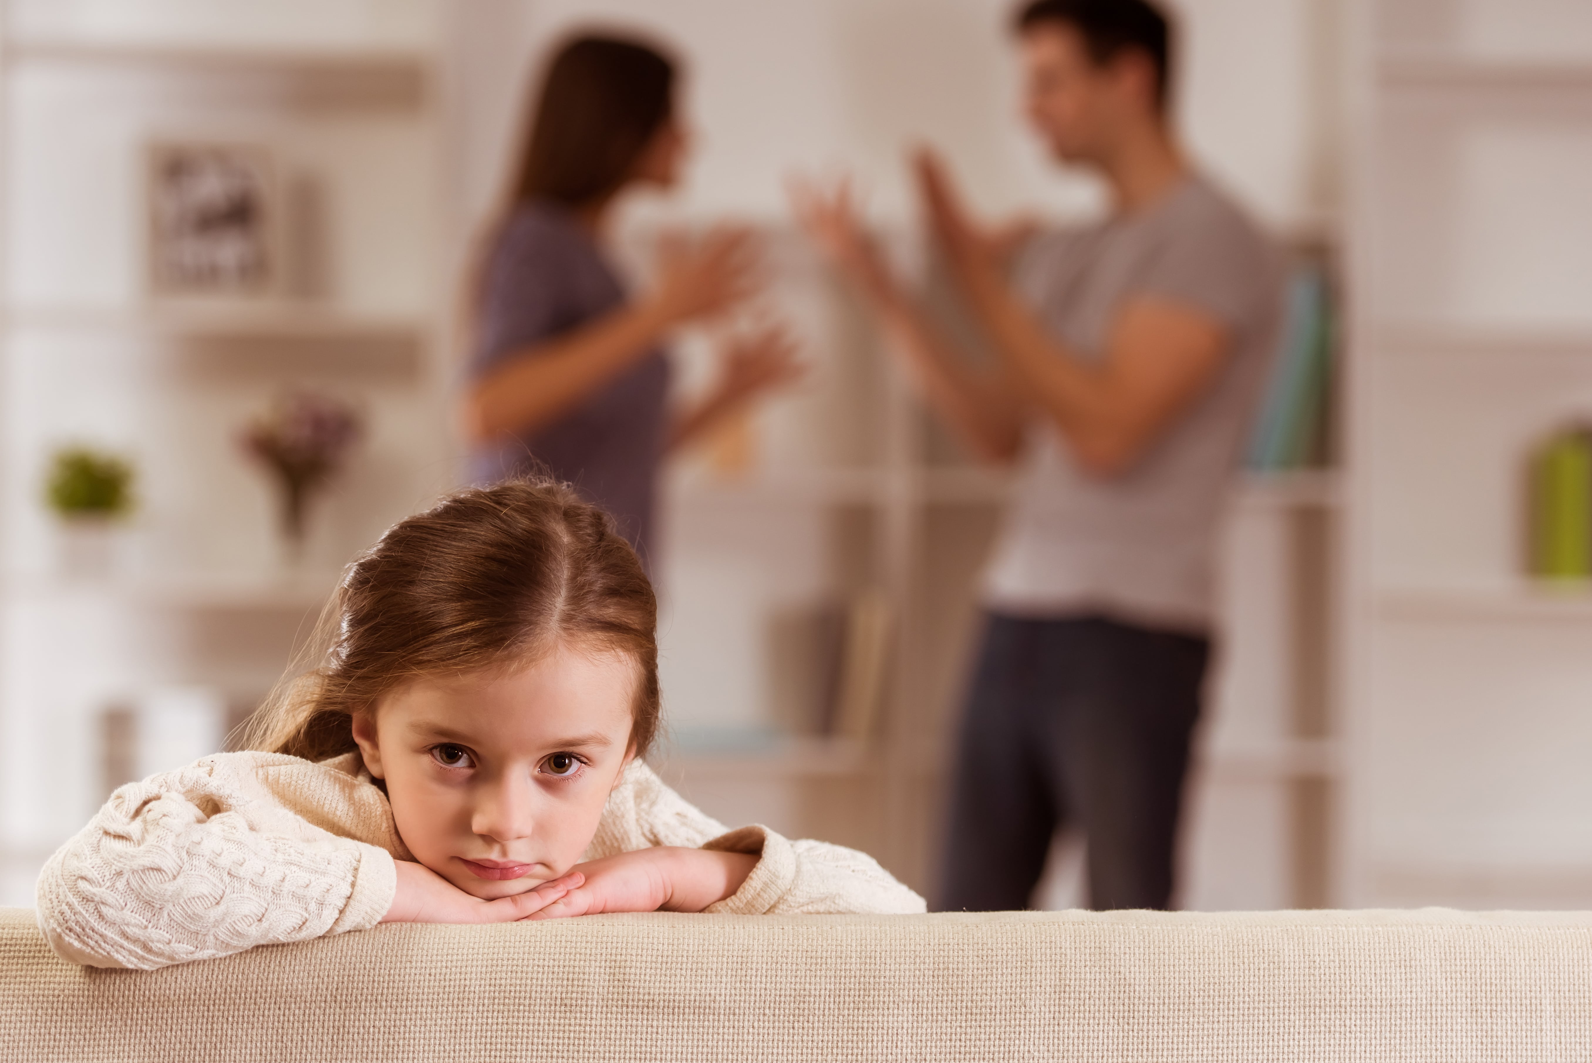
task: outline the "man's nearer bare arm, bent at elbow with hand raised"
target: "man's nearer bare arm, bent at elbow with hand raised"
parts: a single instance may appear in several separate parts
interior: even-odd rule
[[[1055,423],[1087,471],[1118,476],[1132,468],[1226,363],[1227,326],[1194,306],[1140,296],[1118,313],[1103,356],[1084,361],[1008,288],[933,156],[920,156],[919,177],[952,272],[1030,404]]]

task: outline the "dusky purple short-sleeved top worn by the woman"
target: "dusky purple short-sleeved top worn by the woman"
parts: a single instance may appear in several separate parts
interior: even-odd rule
[[[498,231],[482,283],[471,379],[525,347],[556,339],[626,301],[591,234],[564,207],[522,204]],[[642,560],[653,533],[653,495],[664,455],[669,361],[650,350],[551,425],[514,433],[471,455],[471,479],[494,484],[549,473],[602,506]]]

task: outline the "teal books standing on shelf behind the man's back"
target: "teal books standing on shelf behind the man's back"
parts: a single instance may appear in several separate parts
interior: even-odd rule
[[[1282,342],[1250,436],[1250,469],[1270,473],[1326,461],[1333,339],[1326,277],[1318,267],[1299,269],[1288,283]]]

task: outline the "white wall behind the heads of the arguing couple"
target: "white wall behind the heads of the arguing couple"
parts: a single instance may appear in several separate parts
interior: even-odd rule
[[[470,0],[474,204],[500,180],[529,62],[576,25],[640,27],[689,59],[699,158],[677,210],[783,216],[793,169],[847,167],[887,216],[911,210],[904,148],[939,145],[990,212],[1073,213],[1089,181],[1059,175],[1022,127],[1005,0]],[[1180,108],[1194,153],[1262,218],[1313,223],[1331,207],[1329,0],[1178,0]],[[519,54],[505,45],[517,40]],[[497,86],[492,81],[497,80]],[[479,134],[476,134],[479,135]],[[494,143],[495,140],[495,143]],[[476,207],[481,208],[479,205]]]

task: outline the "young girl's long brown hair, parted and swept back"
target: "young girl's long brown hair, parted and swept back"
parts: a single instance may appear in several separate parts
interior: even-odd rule
[[[344,573],[309,667],[290,672],[247,746],[322,761],[358,748],[353,716],[420,678],[514,668],[573,644],[637,668],[630,742],[657,732],[657,600],[613,520],[554,482],[458,492],[400,520]]]

